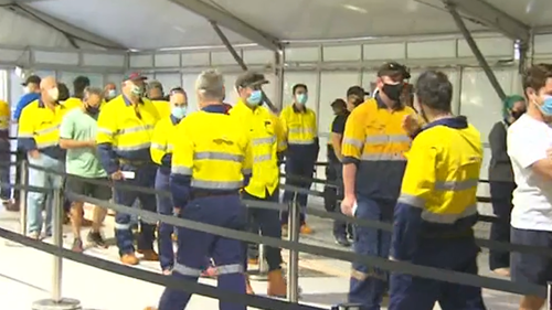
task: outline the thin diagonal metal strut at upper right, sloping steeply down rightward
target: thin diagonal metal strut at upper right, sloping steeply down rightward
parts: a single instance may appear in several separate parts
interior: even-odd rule
[[[461,19],[460,14],[456,10],[455,6],[447,4],[446,6],[448,12],[450,15],[453,15],[454,21],[456,22],[456,25],[460,30],[461,34],[464,35],[464,39],[466,39],[466,43],[468,43],[469,49],[474,53],[474,55],[477,58],[477,62],[481,66],[481,68],[485,72],[485,75],[487,75],[487,78],[489,79],[490,85],[492,88],[495,88],[495,92],[497,93],[498,97],[500,97],[500,100],[503,100],[506,98],[506,93],[505,89],[502,89],[502,86],[497,79],[497,76],[495,75],[495,72],[490,68],[489,63],[482,55],[481,51],[477,46],[476,41],[471,36],[471,33],[469,33],[468,28],[466,26],[466,23],[464,23],[464,20]]]

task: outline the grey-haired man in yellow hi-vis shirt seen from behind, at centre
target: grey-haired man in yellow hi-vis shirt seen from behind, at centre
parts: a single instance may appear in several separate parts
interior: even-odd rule
[[[246,210],[240,189],[247,185],[253,165],[250,132],[222,105],[224,79],[216,71],[203,72],[195,82],[200,111],[177,128],[173,141],[171,192],[181,217],[231,229],[246,228]],[[213,126],[216,124],[216,126]],[[244,244],[225,236],[179,227],[172,277],[197,281],[205,257],[216,264],[219,288],[245,293]],[[191,293],[166,288],[161,310],[185,309]],[[221,300],[221,310],[245,310],[245,304]],[[153,308],[147,308],[153,309]]]

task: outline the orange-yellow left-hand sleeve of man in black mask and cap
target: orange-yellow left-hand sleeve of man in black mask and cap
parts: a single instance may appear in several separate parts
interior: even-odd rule
[[[341,142],[341,153],[343,154],[343,163],[349,163],[349,160],[360,160],[367,133],[364,131],[365,111],[362,106],[352,110],[347,119],[346,129],[343,132],[343,141]]]

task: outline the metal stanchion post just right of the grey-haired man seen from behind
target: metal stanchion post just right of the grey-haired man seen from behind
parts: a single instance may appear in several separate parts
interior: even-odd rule
[[[288,236],[290,242],[298,242],[299,206],[295,200],[290,209],[287,225]],[[294,249],[289,250],[289,259],[287,261],[287,300],[290,302],[297,302],[299,300],[299,253]]]

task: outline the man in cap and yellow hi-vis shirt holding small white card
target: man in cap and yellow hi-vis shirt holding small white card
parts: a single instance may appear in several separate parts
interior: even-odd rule
[[[149,147],[153,127],[159,114],[150,100],[142,98],[144,81],[138,73],[125,76],[123,95],[115,97],[99,111],[96,142],[102,165],[112,180],[117,183],[153,188],[157,167],[151,161]],[[132,206],[140,200],[141,206],[156,211],[156,195],[115,188],[115,203]],[[153,223],[140,223],[138,253],[146,260],[157,260],[153,250]],[[124,264],[139,263],[132,244],[130,215],[117,213],[115,216],[115,237]]]

